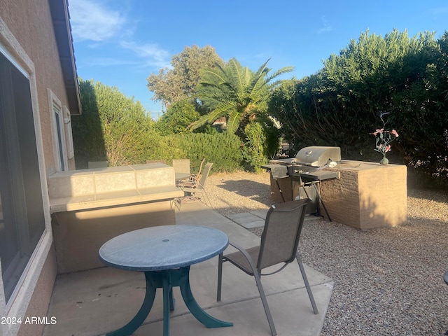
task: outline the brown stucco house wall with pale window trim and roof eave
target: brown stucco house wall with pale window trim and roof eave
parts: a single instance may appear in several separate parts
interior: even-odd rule
[[[60,171],[62,165],[57,157],[52,104],[56,102],[62,113],[65,112],[68,116],[69,113],[80,113],[76,76],[76,83],[69,83],[66,77],[67,69],[72,74],[76,73],[67,8],[66,0],[0,0],[0,52],[6,54],[29,76],[45,214],[43,235],[8,300],[3,292],[0,276],[0,316],[22,318],[22,321],[26,316],[46,315],[57,272],[46,180],[50,174]],[[65,44],[61,42],[61,36]],[[69,46],[68,49],[66,45]],[[67,64],[67,57],[61,56],[64,48],[66,55],[71,57],[68,59],[69,66],[65,66],[65,69],[63,64]],[[72,69],[70,64],[73,64]],[[78,96],[74,103],[71,99],[73,95]],[[62,154],[66,164],[64,170],[75,169],[75,159],[69,150],[64,148]],[[40,335],[39,328],[43,328],[43,325],[5,323],[0,324],[0,335]]]

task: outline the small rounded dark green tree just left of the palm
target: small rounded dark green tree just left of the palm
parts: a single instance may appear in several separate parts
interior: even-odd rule
[[[160,134],[180,134],[188,132],[186,130],[188,125],[199,118],[200,114],[195,110],[195,105],[187,100],[181,100],[170,105],[155,125],[160,131]]]

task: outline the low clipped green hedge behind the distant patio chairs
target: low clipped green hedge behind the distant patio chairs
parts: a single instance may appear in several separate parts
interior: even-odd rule
[[[213,162],[212,172],[235,172],[242,169],[241,140],[227,132],[216,134],[189,133],[165,137],[178,148],[172,158],[188,158],[192,172],[197,172],[202,159]]]

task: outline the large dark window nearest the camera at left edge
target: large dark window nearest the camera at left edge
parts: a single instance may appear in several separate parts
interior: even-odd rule
[[[7,302],[44,230],[29,78],[0,50],[0,260]]]

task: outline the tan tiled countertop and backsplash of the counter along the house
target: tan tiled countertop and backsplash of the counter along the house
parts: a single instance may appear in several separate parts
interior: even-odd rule
[[[52,213],[183,196],[174,168],[162,163],[59,172],[48,177],[48,193]]]

